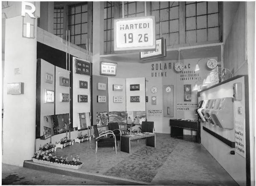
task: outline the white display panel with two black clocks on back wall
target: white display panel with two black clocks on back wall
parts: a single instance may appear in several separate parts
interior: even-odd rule
[[[126,111],[145,111],[145,101],[145,78],[126,78]]]

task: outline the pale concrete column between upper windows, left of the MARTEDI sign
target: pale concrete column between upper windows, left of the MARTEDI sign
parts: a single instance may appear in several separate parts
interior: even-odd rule
[[[99,75],[100,55],[104,54],[104,2],[93,1],[93,75]]]

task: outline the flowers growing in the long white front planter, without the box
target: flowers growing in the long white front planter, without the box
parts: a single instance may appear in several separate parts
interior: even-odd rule
[[[68,157],[60,157],[58,158],[57,156],[55,156],[55,153],[47,153],[44,151],[37,151],[34,153],[34,156],[32,157],[32,159],[37,159],[37,160],[42,160],[42,161],[49,161],[52,163],[63,163],[63,164],[67,164],[67,165],[74,165],[74,166],[79,166],[82,164],[82,162],[80,162],[79,156],[76,155],[75,157],[69,159]]]

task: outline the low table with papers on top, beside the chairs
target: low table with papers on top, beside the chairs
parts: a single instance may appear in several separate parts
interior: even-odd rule
[[[131,134],[131,135],[122,135],[121,136],[121,151],[130,153],[131,151],[131,140],[146,138],[146,145],[150,147],[155,147],[156,145],[156,135],[154,133],[140,133]]]

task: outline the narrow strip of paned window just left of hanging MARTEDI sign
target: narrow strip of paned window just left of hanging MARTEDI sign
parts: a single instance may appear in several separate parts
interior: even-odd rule
[[[114,47],[113,3],[104,2],[104,54],[110,54]]]

